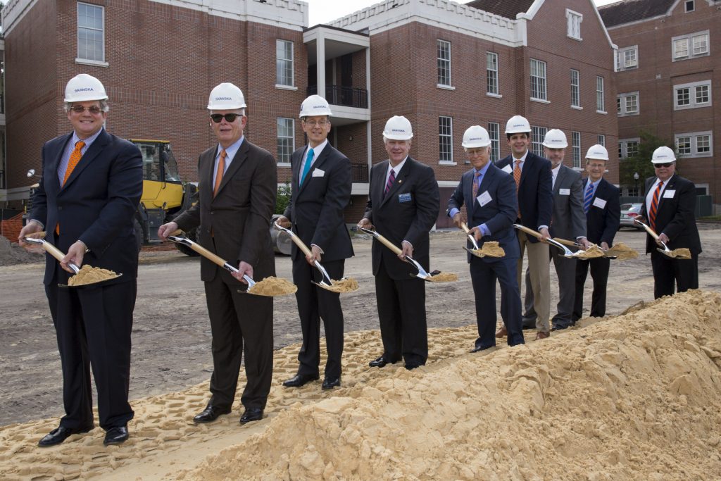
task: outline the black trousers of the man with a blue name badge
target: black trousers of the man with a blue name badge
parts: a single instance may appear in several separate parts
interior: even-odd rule
[[[392,279],[381,260],[376,274],[376,302],[383,357],[392,363],[402,357],[409,368],[423,366],[428,359],[425,281],[417,277]]]

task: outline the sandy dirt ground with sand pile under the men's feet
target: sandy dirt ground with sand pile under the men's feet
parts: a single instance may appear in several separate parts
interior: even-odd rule
[[[644,234],[621,231],[616,241],[642,250]],[[42,265],[3,267],[0,478],[640,479],[634,472],[658,480],[717,477],[711,473],[721,472],[718,296],[696,293],[689,301],[655,304],[524,348],[502,346],[471,356],[473,298],[462,243],[456,231],[433,234],[432,268],[460,279],[427,287],[430,358],[412,373],[367,367],[381,353],[379,333],[372,331],[378,317],[368,239],[355,239],[356,256],[346,265],[361,288],[342,296],[346,330],[353,331],[345,343],[342,389],[321,392],[319,383],[280,387],[296,371],[300,332],[293,296],[277,298],[278,350],[267,418],[244,427],[238,425],[238,407],[213,425],[191,420],[208,398],[211,372],[198,260],[173,251],[143,253],[133,329],[136,419],[129,426],[131,440],[110,449],[102,446],[99,428],[61,446],[35,447],[62,412],[55,337],[40,284]],[[703,229],[702,243],[700,284],[721,291],[721,230]],[[278,275],[289,278],[289,258],[277,257],[276,264]],[[587,289],[590,299],[590,279]],[[614,262],[609,315],[652,299],[647,257]],[[673,316],[659,317],[668,312]],[[600,367],[580,369],[588,363]],[[681,417],[673,420],[671,414]],[[682,442],[688,446],[666,454]],[[453,455],[444,444],[456,446]],[[334,454],[334,446],[342,454]],[[647,456],[649,449],[653,455]],[[685,457],[677,459],[678,452]],[[235,472],[237,464],[249,464],[249,470]],[[198,465],[202,473],[181,474]],[[461,469],[466,465],[471,467]]]

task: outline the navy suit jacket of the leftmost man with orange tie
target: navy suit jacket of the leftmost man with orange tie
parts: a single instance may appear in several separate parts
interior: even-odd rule
[[[138,147],[103,129],[61,187],[58,166],[72,133],[43,145],[43,178],[32,200],[30,219],[45,224],[47,240],[63,252],[77,240],[90,252],[83,262],[123,273],[108,283],[138,276],[133,214],[143,193],[143,159]],[[60,224],[58,242],[55,227]],[[43,282],[53,282],[54,258],[47,256]]]

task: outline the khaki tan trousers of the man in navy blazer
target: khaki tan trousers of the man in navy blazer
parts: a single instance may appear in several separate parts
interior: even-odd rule
[[[536,329],[549,332],[551,326],[551,271],[549,268],[549,246],[545,242],[528,242],[525,232],[518,231],[518,247],[521,257],[516,264],[516,281],[521,286],[523,277],[523,250],[528,249],[528,270],[530,271],[530,288],[534,293],[534,310],[536,311]],[[526,284],[526,290],[529,286]]]

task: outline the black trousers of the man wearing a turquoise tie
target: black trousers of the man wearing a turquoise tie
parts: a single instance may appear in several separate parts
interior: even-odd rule
[[[345,260],[322,262],[332,279],[343,277]],[[311,281],[320,281],[322,276],[317,268],[306,261],[302,254],[293,260],[293,283],[298,286],[296,301],[298,315],[301,318],[303,346],[298,353],[298,374],[317,376],[320,363],[320,319],[323,319],[325,344],[328,358],[325,364],[325,376],[339,377],[340,358],[343,353],[343,311],[340,307],[340,294],[327,291]]]

